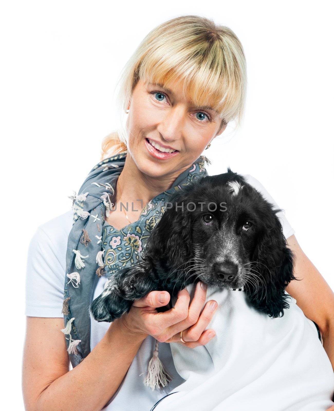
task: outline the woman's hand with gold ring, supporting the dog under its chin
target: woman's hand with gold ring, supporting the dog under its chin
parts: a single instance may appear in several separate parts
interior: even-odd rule
[[[173,308],[157,312],[156,308],[169,303],[170,295],[167,291],[151,291],[136,300],[130,311],[123,314],[119,319],[120,326],[142,338],[152,335],[159,342],[180,342],[190,348],[205,345],[216,335],[214,330],[205,328],[216,312],[217,302],[208,301],[201,313],[206,298],[206,284],[201,282],[196,284],[191,302],[187,289],[179,291],[177,297]],[[181,342],[181,331],[185,343]]]

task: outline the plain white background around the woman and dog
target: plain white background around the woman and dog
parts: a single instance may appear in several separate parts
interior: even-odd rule
[[[257,178],[334,289],[330,2],[120,3],[11,1],[0,10],[7,410],[23,410],[30,238],[39,224],[70,209],[67,196],[100,161],[100,143],[114,130],[119,72],[141,39],[169,18],[213,18],[241,40],[248,65],[244,126],[228,127],[205,151],[209,174],[230,166]]]

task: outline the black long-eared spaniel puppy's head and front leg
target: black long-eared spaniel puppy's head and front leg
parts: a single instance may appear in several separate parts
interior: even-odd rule
[[[233,192],[230,182],[243,187],[234,186]],[[245,286],[252,307],[283,316],[289,307],[284,290],[295,277],[293,254],[276,216],[280,210],[230,169],[190,183],[170,203],[148,238],[142,261],[119,270],[92,302],[93,318],[114,321],[150,291],[175,295],[199,280],[219,289]],[[182,204],[183,210],[176,208]]]

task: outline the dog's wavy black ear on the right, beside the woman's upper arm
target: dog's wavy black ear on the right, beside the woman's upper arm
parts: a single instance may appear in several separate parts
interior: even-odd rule
[[[260,233],[257,245],[251,256],[252,283],[247,283],[250,290],[247,299],[253,307],[269,314],[270,317],[281,317],[283,309],[289,308],[286,301],[285,287],[293,279],[294,255],[288,248],[281,223],[276,212],[271,211],[266,221],[266,229]],[[259,277],[259,278],[256,278]],[[256,286],[255,286],[256,283]]]

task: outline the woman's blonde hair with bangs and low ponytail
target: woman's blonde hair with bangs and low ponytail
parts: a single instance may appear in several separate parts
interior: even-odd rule
[[[180,81],[183,96],[197,106],[211,106],[222,123],[241,125],[246,99],[246,59],[238,37],[225,26],[201,16],[179,16],[146,35],[123,67],[118,80],[118,130],[102,142],[101,159],[127,150],[123,126],[132,90],[139,80]]]

